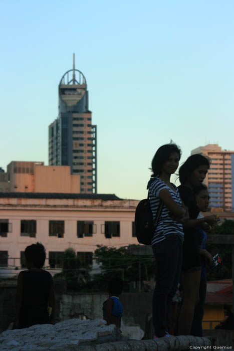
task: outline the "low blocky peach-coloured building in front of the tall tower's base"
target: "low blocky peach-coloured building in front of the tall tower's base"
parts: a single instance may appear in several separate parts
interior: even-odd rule
[[[80,175],[71,174],[70,166],[45,166],[44,162],[12,161],[2,192],[26,193],[80,193]],[[8,185],[8,188],[7,188]]]

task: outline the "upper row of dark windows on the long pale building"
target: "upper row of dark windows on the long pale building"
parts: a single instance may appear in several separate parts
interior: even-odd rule
[[[92,189],[91,189],[92,191]],[[65,221],[49,221],[49,236],[64,238]],[[12,224],[8,219],[0,220],[0,236],[7,237],[8,233],[12,232]],[[21,220],[21,236],[36,237],[37,221],[36,220]],[[77,221],[77,237],[92,237],[97,233],[97,225],[93,221]],[[101,233],[105,234],[106,238],[120,237],[120,222],[105,221],[101,225]],[[132,236],[136,236],[135,224],[132,222]]]

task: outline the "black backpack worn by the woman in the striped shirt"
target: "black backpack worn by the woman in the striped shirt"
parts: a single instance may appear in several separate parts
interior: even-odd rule
[[[163,202],[160,200],[155,221],[153,221],[153,214],[149,203],[149,194],[147,199],[141,200],[137,205],[135,211],[135,226],[136,237],[140,244],[151,244],[154,230],[162,213],[162,207]]]

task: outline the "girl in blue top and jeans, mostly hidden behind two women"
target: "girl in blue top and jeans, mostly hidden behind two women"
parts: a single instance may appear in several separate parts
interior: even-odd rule
[[[196,203],[199,211],[206,212],[209,207],[209,193],[207,187],[204,184],[201,184],[198,187],[193,189],[193,194],[195,195]],[[199,213],[197,218],[203,218]],[[205,228],[204,228],[205,229]],[[200,276],[200,285],[199,285],[199,302],[195,306],[194,316],[191,327],[191,335],[202,336],[202,318],[204,314],[204,304],[205,304],[205,295],[206,295],[206,265],[209,267],[213,265],[212,255],[205,249],[205,243],[207,240],[207,235],[202,228],[202,226],[197,226],[197,241],[200,247],[200,262],[201,262],[201,276]],[[206,230],[211,229],[207,224]]]

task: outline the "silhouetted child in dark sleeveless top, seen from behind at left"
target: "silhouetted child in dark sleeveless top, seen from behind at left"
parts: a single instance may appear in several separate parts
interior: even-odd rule
[[[40,243],[27,246],[25,258],[28,270],[18,275],[14,328],[54,324],[54,284],[52,275],[42,269],[46,259],[44,246]]]

